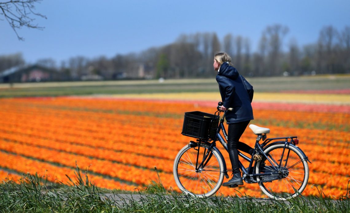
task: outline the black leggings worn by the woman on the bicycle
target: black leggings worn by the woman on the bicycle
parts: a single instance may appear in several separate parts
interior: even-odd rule
[[[237,149],[249,154],[252,154],[252,151],[253,151],[253,148],[239,141],[240,137],[242,136],[249,122],[250,121],[242,121],[238,123],[229,124],[229,129],[228,129],[229,139],[227,143],[227,148],[229,150],[229,156],[232,164],[233,173],[239,172]]]

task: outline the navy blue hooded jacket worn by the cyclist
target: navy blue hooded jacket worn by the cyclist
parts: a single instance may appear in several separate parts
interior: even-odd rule
[[[253,120],[251,100],[236,68],[228,63],[223,63],[216,76],[216,81],[219,84],[224,107],[233,108],[233,111],[226,112],[227,123]]]

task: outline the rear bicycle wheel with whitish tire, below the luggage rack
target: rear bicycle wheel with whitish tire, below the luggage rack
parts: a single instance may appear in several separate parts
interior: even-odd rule
[[[264,173],[265,171],[280,171],[279,175],[271,176],[257,176],[260,189],[268,197],[276,200],[288,200],[301,194],[309,179],[309,166],[303,155],[295,147],[286,145],[285,152],[282,157],[282,151],[285,144],[274,144],[267,147],[264,152],[266,156],[275,160],[271,164],[266,157],[257,162],[255,172]],[[289,157],[286,163],[286,157]],[[281,166],[279,162],[282,161]],[[273,166],[276,166],[275,168]]]

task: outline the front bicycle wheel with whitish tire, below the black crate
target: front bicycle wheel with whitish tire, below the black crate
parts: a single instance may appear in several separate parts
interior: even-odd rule
[[[209,162],[204,168],[196,171],[197,155],[199,155],[199,165],[203,160],[204,151],[208,151],[208,148],[209,145],[204,143],[195,148],[188,144],[176,155],[173,173],[176,185],[182,192],[196,197],[210,197],[221,187],[224,179],[224,164],[214,148],[211,149],[212,156]]]

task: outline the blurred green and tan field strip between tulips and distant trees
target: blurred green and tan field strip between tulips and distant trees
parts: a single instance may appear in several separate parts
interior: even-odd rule
[[[247,78],[255,92],[349,94],[350,75]],[[299,92],[298,92],[299,91]],[[169,80],[73,81],[0,84],[0,97],[100,95],[139,93],[218,92],[213,78]],[[325,92],[323,92],[325,93]],[[195,97],[193,97],[195,98]],[[282,101],[282,100],[280,100]]]

